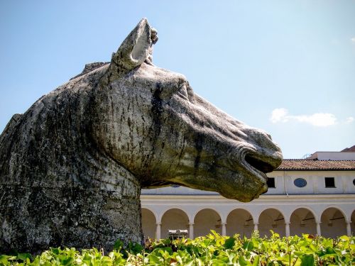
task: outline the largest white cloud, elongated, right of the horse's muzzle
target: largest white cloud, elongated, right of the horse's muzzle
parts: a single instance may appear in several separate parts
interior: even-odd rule
[[[284,108],[274,109],[271,112],[270,120],[272,123],[297,121],[300,123],[309,123],[312,126],[332,126],[337,123],[337,118],[332,113],[313,113],[311,115],[292,116],[289,115],[288,110]]]

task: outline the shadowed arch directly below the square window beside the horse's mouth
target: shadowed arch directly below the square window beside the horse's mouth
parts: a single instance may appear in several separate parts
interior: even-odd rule
[[[270,236],[271,230],[285,236],[285,216],[278,209],[265,209],[258,218],[258,231],[261,237]]]

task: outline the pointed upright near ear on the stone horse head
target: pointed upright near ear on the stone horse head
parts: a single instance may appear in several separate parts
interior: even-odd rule
[[[152,45],[151,31],[151,26],[146,18],[139,21],[136,28],[121,44],[119,50],[112,55],[111,63],[124,70],[132,70],[141,65],[147,59],[149,48]]]

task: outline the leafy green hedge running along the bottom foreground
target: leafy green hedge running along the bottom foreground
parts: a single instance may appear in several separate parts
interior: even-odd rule
[[[214,231],[205,237],[149,241],[143,247],[130,244],[104,255],[103,250],[50,248],[30,254],[0,255],[0,265],[355,265],[355,237],[334,240],[315,235],[280,238],[221,236]]]

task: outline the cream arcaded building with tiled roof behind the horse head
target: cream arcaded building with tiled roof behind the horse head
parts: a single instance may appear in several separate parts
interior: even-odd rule
[[[281,236],[310,233],[337,237],[355,233],[355,152],[318,152],[283,160],[268,174],[268,192],[249,203],[186,187],[143,189],[143,233],[166,238],[184,229],[190,238],[212,229],[222,235]]]

